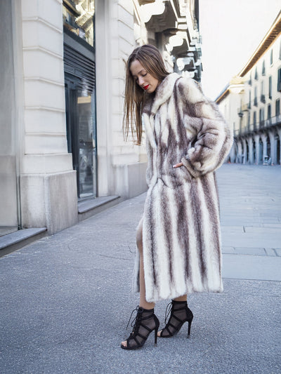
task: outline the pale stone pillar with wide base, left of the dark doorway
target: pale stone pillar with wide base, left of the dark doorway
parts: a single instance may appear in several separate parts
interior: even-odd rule
[[[53,234],[78,221],[76,172],[67,152],[62,1],[21,1],[22,227]],[[20,41],[21,37],[21,41]],[[20,123],[19,123],[20,126]]]

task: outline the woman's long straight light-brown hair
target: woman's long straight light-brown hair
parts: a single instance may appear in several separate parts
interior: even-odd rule
[[[134,49],[131,55],[129,55],[126,63],[123,133],[124,138],[127,140],[129,133],[134,135],[136,132],[136,144],[141,145],[141,135],[143,133],[141,111],[146,95],[143,88],[138,86],[131,74],[131,63],[135,60],[141,62],[145,70],[160,82],[169,72],[166,71],[162,55],[155,46],[145,44]]]

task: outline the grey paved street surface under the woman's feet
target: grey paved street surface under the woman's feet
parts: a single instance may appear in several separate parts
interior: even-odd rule
[[[190,295],[190,339],[119,347],[143,194],[0,258],[0,373],[281,373],[281,168],[223,165],[218,184],[225,290]]]

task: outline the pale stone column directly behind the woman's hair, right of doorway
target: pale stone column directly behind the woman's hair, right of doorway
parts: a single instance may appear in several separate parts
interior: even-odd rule
[[[130,198],[147,189],[145,147],[134,145],[131,134],[124,142],[122,132],[124,61],[136,47],[133,3],[137,1],[95,1],[99,196]]]

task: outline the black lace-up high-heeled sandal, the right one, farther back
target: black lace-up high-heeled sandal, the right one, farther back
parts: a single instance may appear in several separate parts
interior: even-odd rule
[[[166,323],[169,316],[169,321],[168,323]],[[188,303],[186,301],[171,300],[171,302],[166,307],[166,326],[163,328],[159,336],[161,338],[171,338],[172,336],[176,335],[176,333],[178,333],[179,330],[181,330],[181,326],[183,326],[183,323],[188,322],[189,338],[192,319],[193,314],[191,310],[188,308]]]

